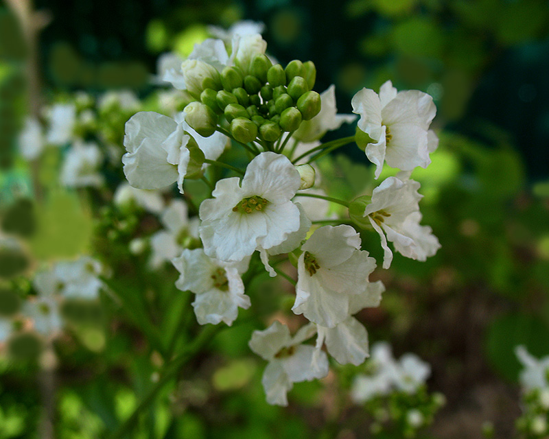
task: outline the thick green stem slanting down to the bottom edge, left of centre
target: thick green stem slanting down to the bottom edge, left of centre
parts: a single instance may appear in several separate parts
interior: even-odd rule
[[[154,384],[154,386],[149,390],[148,394],[146,394],[145,397],[141,400],[139,405],[135,407],[135,410],[132,412],[130,417],[126,419],[124,423],[120,425],[120,427],[118,427],[113,436],[110,436],[110,438],[122,439],[130,436],[132,429],[134,429],[134,427],[136,427],[138,423],[139,415],[150,405],[150,403],[152,403],[152,401],[154,401],[154,397],[156,396],[156,394],[158,394],[160,390],[162,390],[166,383],[170,382],[172,378],[175,377],[177,372],[179,372],[179,370],[183,366],[185,366],[187,361],[192,359],[196,353],[198,353],[209,342],[211,342],[213,335],[215,335],[215,333],[219,330],[220,327],[217,325],[208,325],[207,327],[202,329],[198,337],[196,337],[194,341],[187,346],[185,351],[172,359],[170,363],[166,364],[159,381]]]

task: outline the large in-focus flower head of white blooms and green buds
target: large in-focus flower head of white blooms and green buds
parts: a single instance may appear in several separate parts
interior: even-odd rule
[[[356,136],[319,143],[328,130],[356,116],[338,115],[334,86],[322,94],[312,90],[312,62],[292,60],[282,67],[266,55],[266,47],[259,34],[234,34],[205,40],[186,60],[165,58],[159,78],[185,93],[188,102],[170,116],[133,115],[126,123],[122,162],[137,189],[164,190],[176,183],[185,198],[189,180],[209,189],[195,206],[198,218],[188,219],[181,202],[167,206],[161,217],[166,230],[151,241],[150,266],[172,258],[180,273],[176,287],[196,295],[192,306],[200,324],[231,325],[239,309],[252,306],[244,274],[257,275],[261,263],[270,276],[295,283],[292,311],[307,324],[292,337],[274,321],[250,340],[250,348],[269,362],[262,380],[268,402],[286,405],[293,383],[327,375],[327,353],[340,364],[359,365],[369,356],[368,333],[354,316],[377,307],[385,287],[370,281],[377,263],[350,224],[379,233],[384,268],[393,259],[387,241],[419,261],[438,250],[431,228],[419,224],[419,183],[410,180],[410,171],[427,166],[436,147],[429,130],[435,108],[429,95],[397,93],[390,82],[379,95],[364,89],[352,102],[360,115]],[[318,186],[322,178],[314,162],[353,141],[376,165],[376,178],[384,161],[404,172],[348,202]],[[228,152],[231,145],[242,152],[237,160]],[[325,206],[317,209],[312,202],[334,202],[348,212],[322,216]],[[199,239],[191,232],[196,229]],[[294,264],[297,281],[280,268],[284,261]],[[424,379],[425,368],[408,360],[413,359],[384,365],[384,373],[401,378],[403,389]],[[419,368],[421,377],[408,366]]]

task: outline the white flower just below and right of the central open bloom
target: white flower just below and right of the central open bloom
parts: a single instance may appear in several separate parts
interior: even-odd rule
[[[367,294],[375,260],[360,250],[351,226],[323,226],[301,246],[292,311],[320,326],[334,328],[350,316],[352,296]]]

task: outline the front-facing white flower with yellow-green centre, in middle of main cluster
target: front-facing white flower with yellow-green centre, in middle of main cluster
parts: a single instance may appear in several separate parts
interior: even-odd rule
[[[240,178],[215,185],[214,198],[200,204],[200,238],[209,257],[242,261],[257,249],[269,250],[299,230],[300,213],[291,201],[301,179],[288,158],[263,152]]]

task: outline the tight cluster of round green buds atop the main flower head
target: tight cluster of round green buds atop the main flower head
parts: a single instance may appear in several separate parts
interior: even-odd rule
[[[219,124],[242,143],[274,142],[320,112],[320,95],[312,91],[316,80],[312,61],[293,60],[284,69],[258,54],[249,66],[237,64],[221,73],[202,64],[206,63],[186,61],[183,73],[191,84],[187,90],[200,99],[185,107],[185,120],[204,137]]]

